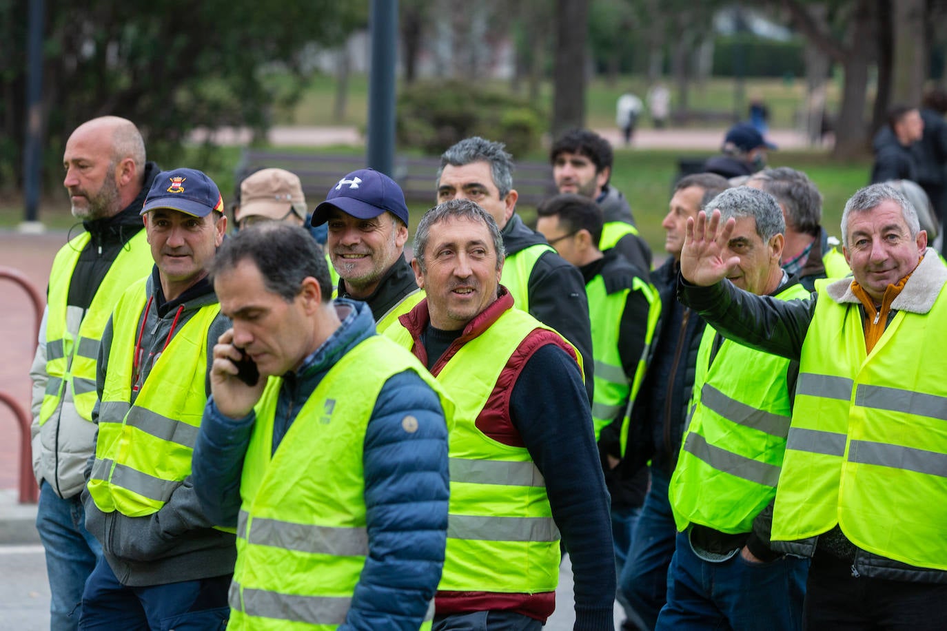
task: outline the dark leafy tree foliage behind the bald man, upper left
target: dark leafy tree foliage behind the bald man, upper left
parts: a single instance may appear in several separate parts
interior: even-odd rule
[[[28,0],[0,1],[0,186],[21,182]],[[338,44],[365,9],[331,0],[46,0],[47,179],[68,134],[102,114],[133,120],[166,164],[196,127],[269,124],[305,87],[304,44]],[[294,80],[267,81],[278,69]]]

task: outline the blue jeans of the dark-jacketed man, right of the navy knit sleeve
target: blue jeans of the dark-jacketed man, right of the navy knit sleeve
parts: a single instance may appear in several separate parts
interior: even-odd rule
[[[618,593],[644,629],[653,629],[668,592],[668,566],[674,554],[674,517],[668,500],[668,475],[651,467],[651,488],[634,529],[628,563],[618,576]]]

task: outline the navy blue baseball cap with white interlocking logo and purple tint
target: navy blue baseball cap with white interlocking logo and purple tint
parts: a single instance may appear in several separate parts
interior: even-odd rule
[[[372,219],[388,211],[404,225],[408,224],[408,206],[402,187],[373,168],[352,171],[332,186],[326,201],[313,210],[313,226],[328,221],[332,208],[358,219]]]

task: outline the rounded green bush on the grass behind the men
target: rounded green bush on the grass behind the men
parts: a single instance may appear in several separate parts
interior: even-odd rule
[[[536,105],[482,84],[417,81],[398,99],[398,142],[438,154],[458,140],[502,140],[514,156],[538,149],[547,115]]]

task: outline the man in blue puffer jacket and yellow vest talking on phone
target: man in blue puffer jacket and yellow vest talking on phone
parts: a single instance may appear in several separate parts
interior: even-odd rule
[[[270,224],[211,268],[233,328],[193,475],[207,514],[237,526],[228,628],[418,629],[444,559],[452,406],[365,303],[331,299],[319,254]]]

